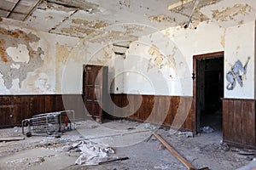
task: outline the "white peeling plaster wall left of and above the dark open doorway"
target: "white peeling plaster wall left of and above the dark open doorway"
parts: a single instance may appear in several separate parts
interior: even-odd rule
[[[141,37],[126,54],[124,93],[192,96],[193,55],[223,50],[224,28],[207,22]]]

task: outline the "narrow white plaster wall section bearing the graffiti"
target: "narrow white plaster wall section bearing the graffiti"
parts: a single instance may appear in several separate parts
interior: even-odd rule
[[[255,99],[255,22],[250,22],[241,26],[230,27],[225,33],[224,48],[224,98],[230,99]],[[236,62],[241,62],[239,66]],[[247,64],[247,66],[246,66]],[[232,67],[238,65],[235,70]],[[246,68],[245,68],[246,66]],[[244,68],[246,72],[240,70]],[[227,80],[230,72],[230,80]],[[232,76],[231,76],[232,75]],[[238,77],[236,77],[238,76]],[[239,84],[241,81],[241,84]]]

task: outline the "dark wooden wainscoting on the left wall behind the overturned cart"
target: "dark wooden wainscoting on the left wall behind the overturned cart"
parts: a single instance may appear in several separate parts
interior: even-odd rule
[[[26,118],[52,111],[74,110],[75,119],[83,120],[81,103],[81,94],[0,95],[0,128],[20,126]]]

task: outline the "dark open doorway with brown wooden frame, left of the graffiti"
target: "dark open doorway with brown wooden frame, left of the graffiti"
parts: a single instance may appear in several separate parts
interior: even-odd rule
[[[222,131],[222,98],[224,97],[224,54],[194,56],[196,131],[210,127]]]

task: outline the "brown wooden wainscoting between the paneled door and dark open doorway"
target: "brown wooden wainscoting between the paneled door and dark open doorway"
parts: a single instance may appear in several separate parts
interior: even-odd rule
[[[111,94],[113,103],[129,112],[120,112],[113,106],[112,118],[125,117],[138,122],[152,122],[174,126],[182,123],[182,129],[192,131],[193,119],[191,117],[191,97],[163,96],[163,95],[137,95],[137,94]],[[141,104],[140,104],[141,101]],[[176,123],[173,122],[175,116]],[[186,116],[188,114],[188,116]],[[185,122],[181,116],[186,116]]]

